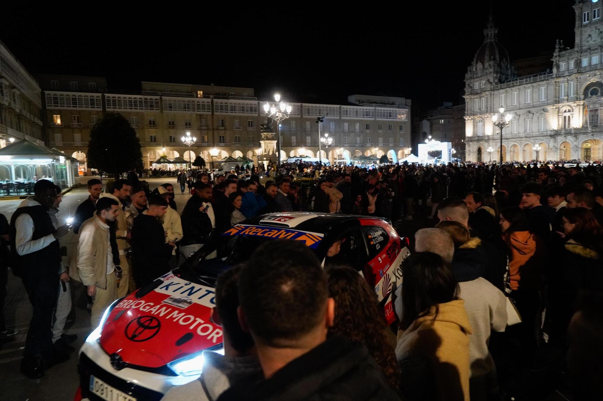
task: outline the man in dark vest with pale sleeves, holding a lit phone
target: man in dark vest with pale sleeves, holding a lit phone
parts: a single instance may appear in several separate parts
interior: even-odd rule
[[[61,262],[57,240],[69,232],[68,226],[55,229],[52,225],[48,210],[56,198],[54,183],[40,179],[34,196],[25,199],[10,220],[13,272],[21,276],[33,307],[21,360],[21,373],[30,379],[41,378],[45,369],[69,359],[52,346],[52,313]]]

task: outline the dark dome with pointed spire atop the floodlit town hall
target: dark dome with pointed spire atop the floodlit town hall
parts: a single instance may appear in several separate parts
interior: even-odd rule
[[[479,89],[491,89],[492,84],[511,77],[509,54],[507,49],[498,42],[497,33],[498,28],[494,25],[490,14],[490,19],[488,19],[488,24],[484,30],[484,43],[479,46],[471,66],[467,69],[465,81],[468,90],[477,89],[473,82],[478,79],[485,81],[486,85],[480,85]]]

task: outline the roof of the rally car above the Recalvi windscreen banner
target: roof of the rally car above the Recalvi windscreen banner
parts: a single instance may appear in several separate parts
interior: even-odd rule
[[[324,233],[335,226],[349,226],[350,222],[359,219],[387,222],[387,219],[382,219],[380,217],[353,216],[350,214],[283,212],[251,217],[251,219],[243,220],[239,224]]]

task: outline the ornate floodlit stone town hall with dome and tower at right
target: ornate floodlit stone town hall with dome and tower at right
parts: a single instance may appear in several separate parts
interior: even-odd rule
[[[603,20],[601,2],[578,0],[573,48],[557,41],[552,69],[517,76],[492,20],[465,77],[466,160],[499,160],[492,116],[504,107],[504,161],[603,159]],[[561,10],[560,10],[561,11]]]

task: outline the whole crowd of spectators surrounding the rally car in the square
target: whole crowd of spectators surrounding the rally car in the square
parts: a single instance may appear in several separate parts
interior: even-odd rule
[[[300,170],[311,179],[299,180]],[[0,219],[10,244],[3,261],[33,305],[21,371],[40,378],[74,350],[74,336],[63,333],[70,279],[86,287],[96,327],[115,299],[178,266],[212,235],[259,214],[315,211],[430,226],[415,232],[402,263],[396,323],[386,325],[356,270],[323,269],[297,241],[270,241],[216,283],[212,321],[224,328],[225,355],[206,352],[201,378],[165,400],[537,399],[543,371],[548,383],[567,383],[574,399],[596,399],[601,173],[556,164],[289,164],[260,182],[240,171],[182,170],[176,189],[192,196],[180,214],[174,184],[150,191],[128,175],[105,191],[90,179],[71,226],[56,218],[61,188],[39,180],[10,223]],[[70,228],[77,236],[66,244]],[[210,379],[218,374],[223,379]]]

